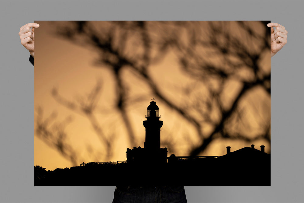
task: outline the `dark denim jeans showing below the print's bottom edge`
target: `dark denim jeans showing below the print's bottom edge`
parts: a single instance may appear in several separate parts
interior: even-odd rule
[[[184,186],[117,186],[114,202],[187,202]]]

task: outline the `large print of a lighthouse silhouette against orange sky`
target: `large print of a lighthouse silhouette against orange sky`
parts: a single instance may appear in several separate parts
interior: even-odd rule
[[[35,186],[270,186],[270,21],[35,23]]]

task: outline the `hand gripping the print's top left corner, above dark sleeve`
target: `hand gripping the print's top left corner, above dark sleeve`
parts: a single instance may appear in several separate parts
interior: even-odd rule
[[[31,29],[33,28],[33,30]],[[39,27],[37,23],[27,23],[20,27],[21,44],[29,50],[29,53],[35,58],[35,28]]]

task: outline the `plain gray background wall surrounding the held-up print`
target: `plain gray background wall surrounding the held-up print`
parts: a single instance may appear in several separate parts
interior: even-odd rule
[[[112,202],[115,187],[34,187],[34,68],[19,28],[34,20],[271,20],[271,187],[185,187],[188,202],[304,202],[303,1],[0,1],[0,201]],[[251,181],[251,180],[248,180]]]

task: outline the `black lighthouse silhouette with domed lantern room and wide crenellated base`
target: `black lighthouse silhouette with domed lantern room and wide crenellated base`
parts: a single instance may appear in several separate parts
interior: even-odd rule
[[[127,163],[167,163],[167,148],[161,148],[161,127],[163,126],[163,121],[159,120],[161,116],[159,115],[159,108],[154,100],[155,98],[152,98],[150,105],[147,107],[147,120],[143,121],[143,126],[146,128],[144,148],[128,148],[126,152]]]

